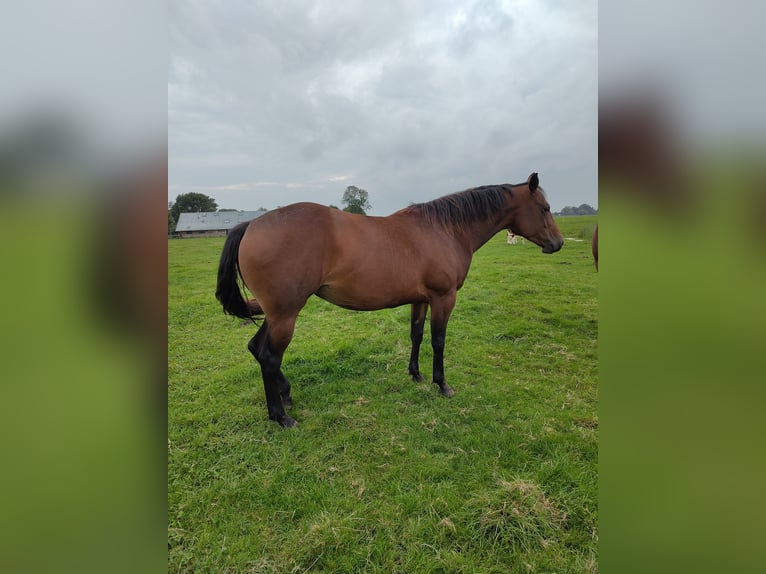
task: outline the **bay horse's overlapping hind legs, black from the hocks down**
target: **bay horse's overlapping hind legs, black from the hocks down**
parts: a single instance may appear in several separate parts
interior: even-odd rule
[[[292,396],[290,383],[282,373],[282,357],[293,337],[294,328],[295,317],[267,319],[247,345],[261,365],[269,418],[283,427],[293,427],[298,424],[284,409],[285,406],[292,406]]]

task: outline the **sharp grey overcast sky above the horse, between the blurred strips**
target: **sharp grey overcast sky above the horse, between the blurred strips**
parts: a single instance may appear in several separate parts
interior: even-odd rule
[[[387,215],[525,181],[598,205],[595,0],[171,0],[169,200]]]

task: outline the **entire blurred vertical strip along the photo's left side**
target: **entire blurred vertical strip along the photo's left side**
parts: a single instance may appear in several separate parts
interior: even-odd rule
[[[0,571],[165,567],[166,18],[0,22]]]

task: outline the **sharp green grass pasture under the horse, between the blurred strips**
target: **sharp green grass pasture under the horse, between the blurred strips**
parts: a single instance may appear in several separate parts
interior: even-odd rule
[[[222,238],[172,240],[169,572],[597,572],[595,217],[554,255],[499,234],[447,330],[456,396],[407,374],[409,308],[312,298],[268,420],[252,325],[214,298]],[[430,373],[428,330],[421,369]]]

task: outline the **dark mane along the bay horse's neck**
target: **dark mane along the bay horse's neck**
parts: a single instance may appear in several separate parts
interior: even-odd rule
[[[426,203],[416,203],[402,211],[419,211],[431,225],[465,225],[486,219],[505,206],[504,194],[513,193],[510,184],[482,185],[445,195]]]

